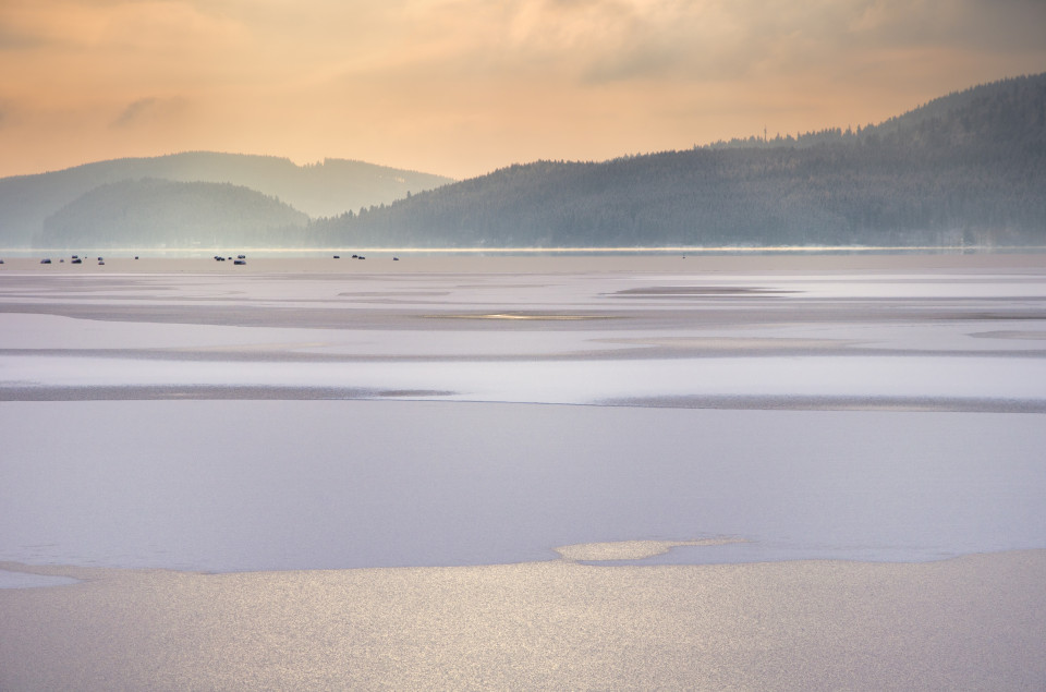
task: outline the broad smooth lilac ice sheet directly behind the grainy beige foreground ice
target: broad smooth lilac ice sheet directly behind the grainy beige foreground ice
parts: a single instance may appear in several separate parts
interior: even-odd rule
[[[373,401],[0,403],[0,561],[694,562],[1046,547],[1039,415]]]

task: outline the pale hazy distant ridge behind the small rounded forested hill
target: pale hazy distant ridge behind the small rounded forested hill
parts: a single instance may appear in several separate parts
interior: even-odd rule
[[[0,179],[0,247],[39,242],[44,219],[100,185],[142,179],[230,183],[278,197],[312,216],[389,204],[449,178],[362,161],[326,159],[296,166],[273,156],[190,151],[86,163],[61,171]],[[173,190],[173,189],[171,189]],[[98,210],[100,214],[100,209]]]

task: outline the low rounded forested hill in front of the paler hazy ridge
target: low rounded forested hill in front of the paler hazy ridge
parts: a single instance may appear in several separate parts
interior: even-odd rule
[[[229,183],[146,178],[95,187],[44,221],[41,247],[220,247],[282,245],[308,217]]]

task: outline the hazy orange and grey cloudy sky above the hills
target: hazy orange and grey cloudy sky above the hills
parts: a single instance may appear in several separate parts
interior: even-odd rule
[[[0,175],[188,149],[481,174],[1046,71],[1046,0],[0,0]]]

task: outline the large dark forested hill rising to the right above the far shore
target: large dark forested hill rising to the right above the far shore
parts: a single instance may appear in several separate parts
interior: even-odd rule
[[[512,166],[314,242],[381,246],[1046,245],[1046,74],[875,126]]]

